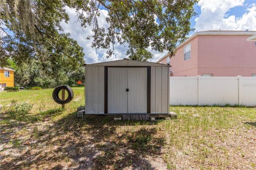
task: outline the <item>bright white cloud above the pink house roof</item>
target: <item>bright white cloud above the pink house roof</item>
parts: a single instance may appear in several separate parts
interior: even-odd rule
[[[244,6],[244,0],[200,0],[201,14],[195,19],[196,31],[203,30],[256,30],[256,4],[247,7],[246,13],[236,18],[226,16],[233,7]]]

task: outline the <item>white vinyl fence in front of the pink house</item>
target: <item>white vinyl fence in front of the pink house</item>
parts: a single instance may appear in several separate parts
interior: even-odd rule
[[[170,105],[256,106],[256,77],[170,77]]]

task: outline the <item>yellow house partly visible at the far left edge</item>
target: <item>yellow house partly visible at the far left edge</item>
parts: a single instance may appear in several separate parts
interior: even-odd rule
[[[4,87],[14,87],[14,71],[6,67],[0,67],[0,85]]]

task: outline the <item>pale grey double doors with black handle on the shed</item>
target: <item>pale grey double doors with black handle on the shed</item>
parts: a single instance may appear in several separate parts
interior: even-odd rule
[[[147,113],[147,68],[108,67],[108,113]]]

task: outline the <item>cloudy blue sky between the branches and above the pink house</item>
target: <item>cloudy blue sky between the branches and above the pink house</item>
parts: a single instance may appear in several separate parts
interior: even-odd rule
[[[191,28],[195,31],[204,30],[253,30],[256,31],[256,0],[199,0],[194,6],[197,13],[191,18]],[[91,47],[92,40],[86,37],[92,35],[92,27],[81,28],[76,22],[76,12],[74,9],[66,8],[70,21],[68,24],[61,23],[64,32],[70,33],[70,37],[75,39],[77,43],[84,48],[85,61],[87,64],[98,63],[104,61],[121,60],[126,58],[127,46],[115,44],[114,56],[107,58],[106,49],[95,49]],[[101,9],[101,15],[98,19],[99,25],[107,27],[105,18],[107,11]],[[193,35],[190,32],[188,36]],[[148,49],[153,53],[154,57],[150,60],[156,62],[163,57],[166,52],[159,53]]]

